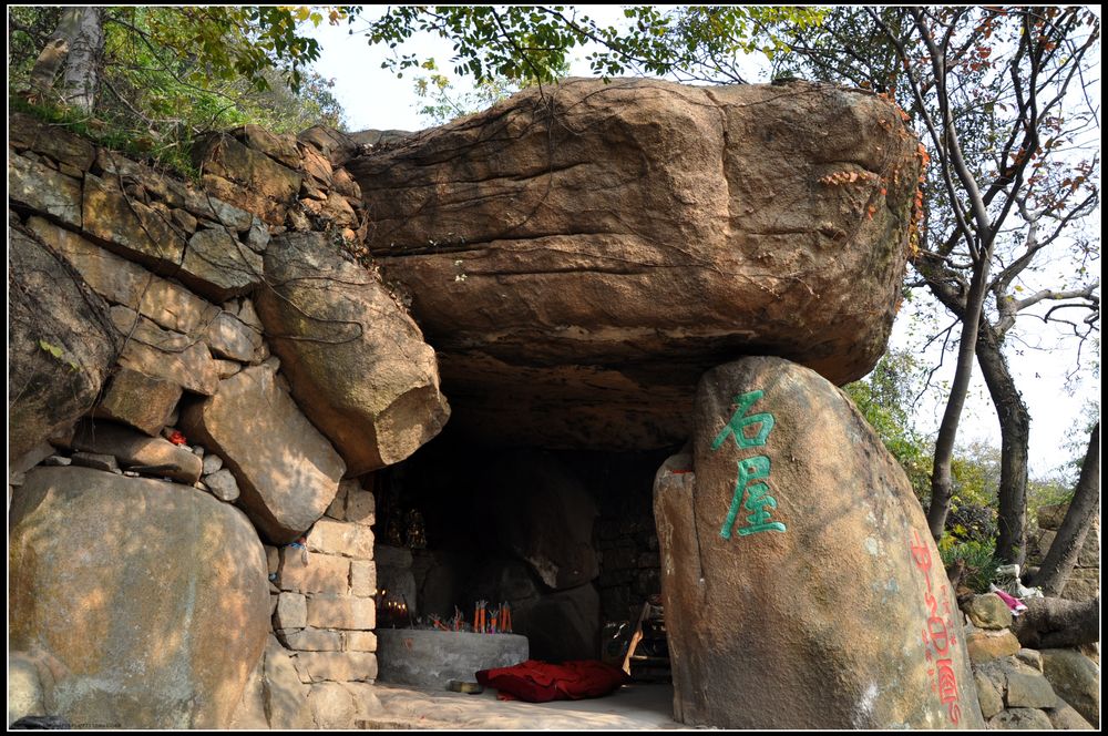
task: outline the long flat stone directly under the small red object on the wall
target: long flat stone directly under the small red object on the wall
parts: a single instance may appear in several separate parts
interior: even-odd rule
[[[164,476],[186,485],[199,480],[204,469],[204,461],[187,449],[110,421],[81,421],[70,446],[74,450],[115,456],[123,468],[145,469],[147,474]]]

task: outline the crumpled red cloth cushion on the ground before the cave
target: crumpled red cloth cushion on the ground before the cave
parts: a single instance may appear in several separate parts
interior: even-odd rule
[[[476,678],[485,687],[500,691],[501,695],[507,693],[529,703],[601,697],[630,679],[619,667],[596,660],[562,664],[527,660],[511,667],[482,669]]]

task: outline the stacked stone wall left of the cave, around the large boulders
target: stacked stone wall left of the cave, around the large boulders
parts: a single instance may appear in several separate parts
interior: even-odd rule
[[[98,483],[123,482],[112,477],[148,478],[184,494],[186,507],[197,503],[188,493],[203,492],[234,505],[236,518],[245,513],[268,568],[269,580],[258,584],[268,585],[270,594],[266,621],[250,617],[266,611],[265,604],[239,600],[240,590],[220,593],[229,610],[242,613],[236,625],[249,630],[245,654],[228,653],[242,661],[224,668],[232,674],[225,672],[223,682],[188,679],[170,707],[141,682],[122,684],[136,709],[121,716],[126,723],[107,723],[109,716],[90,715],[106,713],[103,694],[64,695],[86,679],[66,658],[72,654],[34,644],[52,633],[37,628],[50,624],[35,617],[30,599],[75,600],[79,591],[47,591],[43,586],[57,581],[30,572],[20,577],[17,571],[24,589],[9,594],[13,615],[25,620],[17,626],[10,655],[33,676],[20,681],[16,702],[28,713],[58,714],[74,725],[117,727],[334,728],[368,717],[377,677],[371,476],[342,480],[348,470],[342,452],[326,427],[305,416],[290,385],[296,378],[286,375],[271,349],[273,326],[267,333],[268,320],[255,309],[259,289],[270,287],[266,253],[274,238],[293,232],[315,238],[312,246],[326,251],[319,257],[359,268],[367,288],[383,288],[376,274],[353,264],[363,253],[366,216],[358,184],[341,164],[358,144],[322,127],[294,137],[248,125],[201,141],[201,181],[187,183],[24,114],[12,115],[9,126],[9,239],[21,265],[9,285],[33,296],[72,283],[70,300],[86,301],[85,310],[106,333],[98,338],[89,325],[72,320],[47,331],[33,314],[41,300],[30,297],[28,316],[13,330],[12,378],[23,387],[9,396],[13,417],[21,416],[21,401],[52,381],[75,402],[40,401],[25,413],[47,406],[49,421],[19,421],[13,428],[10,563],[30,571],[31,562],[23,560],[51,552],[49,539],[33,533],[39,511],[22,503],[24,485],[64,504],[71,497],[86,500]],[[41,277],[40,263],[53,269],[49,278]],[[400,305],[391,306],[400,315],[394,319],[408,319]],[[417,328],[404,329],[421,341]],[[288,336],[284,329],[277,334]],[[88,335],[93,337],[85,341],[111,349],[84,349]],[[400,382],[392,374],[390,380]],[[433,384],[441,413],[438,378],[424,380]],[[326,403],[328,397],[316,400]],[[428,425],[433,427],[421,438],[438,431],[441,417]],[[92,483],[69,466],[99,470],[107,480]],[[214,535],[223,539],[224,532]],[[27,555],[11,558],[12,550]],[[187,566],[181,561],[172,566],[181,564]],[[182,622],[185,642],[208,634]],[[157,652],[122,656],[133,666],[157,666]],[[197,655],[186,644],[182,656]],[[198,696],[208,692],[223,698],[218,707]],[[194,712],[202,706],[206,713]],[[20,714],[9,709],[9,722],[13,715]]]

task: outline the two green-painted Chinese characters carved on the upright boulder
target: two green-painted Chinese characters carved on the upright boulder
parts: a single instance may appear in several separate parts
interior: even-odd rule
[[[740,450],[752,447],[762,447],[769,439],[769,433],[773,430],[773,415],[768,411],[747,415],[747,411],[763,396],[763,391],[748,391],[735,397],[735,413],[728,420],[724,429],[711,443],[712,452],[719,450],[730,437],[735,446]],[[757,431],[755,430],[757,428]],[[747,436],[747,430],[753,433]],[[731,507],[728,509],[727,518],[719,530],[719,535],[724,539],[731,539],[731,530],[735,528],[736,518],[739,515],[740,507],[751,512],[747,518],[747,525],[740,527],[737,531],[740,536],[748,536],[758,532],[783,532],[786,525],[780,521],[770,521],[770,510],[777,509],[777,499],[770,494],[769,472],[770,459],[765,454],[757,454],[750,458],[738,460],[738,476],[735,479],[735,493],[731,497]],[[757,482],[755,482],[757,481]],[[750,484],[748,487],[748,483]],[[746,501],[743,501],[743,495]]]

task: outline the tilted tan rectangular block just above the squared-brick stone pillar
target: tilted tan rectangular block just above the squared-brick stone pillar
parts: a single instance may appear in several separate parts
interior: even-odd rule
[[[214,397],[182,412],[181,427],[224,458],[239,504],[274,544],[291,542],[324,515],[346,471],[270,365],[220,381]]]

